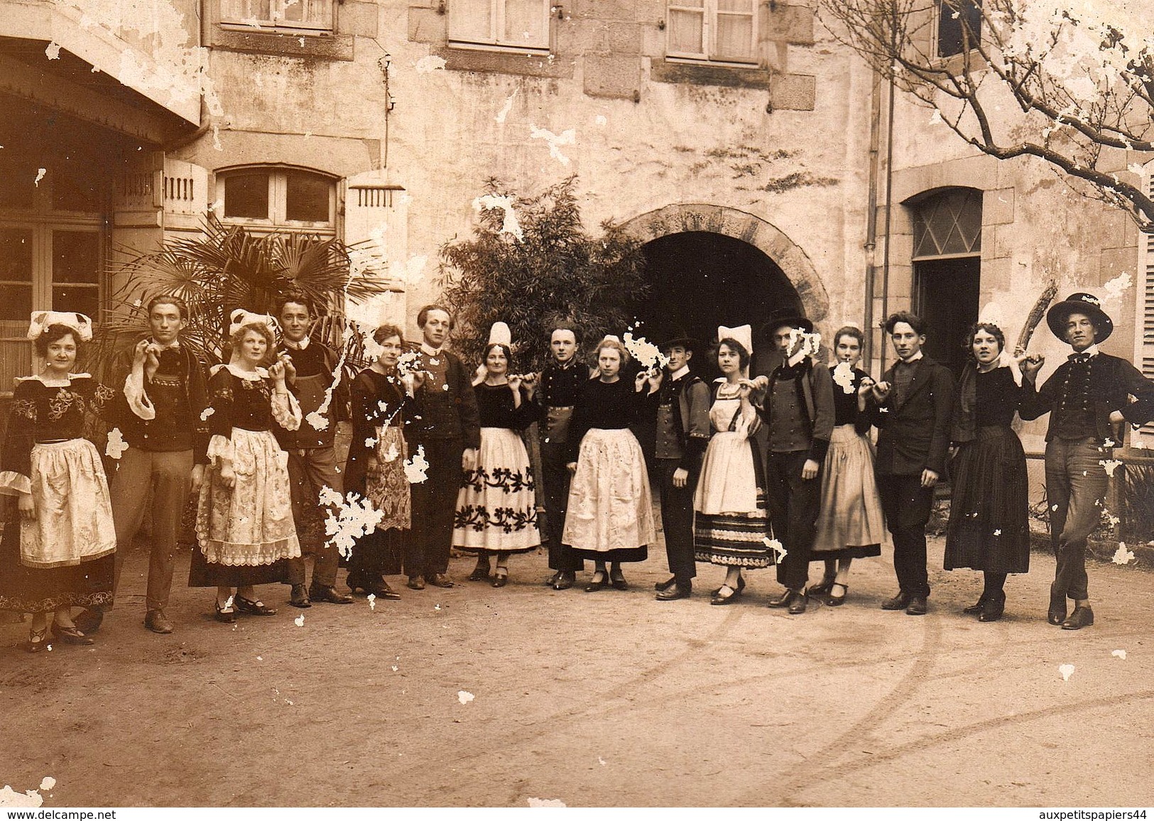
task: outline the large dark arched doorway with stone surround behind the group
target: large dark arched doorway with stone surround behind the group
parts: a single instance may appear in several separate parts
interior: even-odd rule
[[[668,206],[624,225],[645,241],[652,292],[637,308],[639,330],[659,341],[684,328],[702,341],[718,324],[754,326],[781,308],[825,319],[829,298],[809,258],[770,223],[707,204]],[[755,342],[756,338],[755,338]],[[695,363],[702,375],[712,373]]]

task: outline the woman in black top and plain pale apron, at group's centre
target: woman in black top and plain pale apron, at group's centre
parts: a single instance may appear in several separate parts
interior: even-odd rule
[[[598,375],[585,382],[569,428],[569,486],[564,544],[595,563],[585,587],[594,592],[613,584],[628,590],[622,562],[645,561],[653,540],[653,503],[645,456],[629,430],[643,405],[647,372],[621,378],[629,354],[616,336],[597,346]],[[613,568],[606,572],[606,563]]]

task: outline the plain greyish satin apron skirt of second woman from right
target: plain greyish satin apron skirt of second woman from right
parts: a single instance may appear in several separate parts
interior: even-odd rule
[[[822,470],[822,507],[812,559],[882,555],[885,515],[874,479],[874,446],[853,425],[838,425]]]

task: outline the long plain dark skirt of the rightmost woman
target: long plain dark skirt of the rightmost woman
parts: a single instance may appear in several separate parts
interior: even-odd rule
[[[1009,426],[977,428],[950,463],[953,499],[946,525],[947,570],[1029,570],[1026,454]]]

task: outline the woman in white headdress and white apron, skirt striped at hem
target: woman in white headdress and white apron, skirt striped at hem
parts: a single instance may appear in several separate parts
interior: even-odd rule
[[[752,329],[718,328],[718,368],[713,382],[710,427],[700,478],[694,494],[694,554],[697,561],[721,565],[725,583],[710,604],[732,604],[745,588],[742,569],[769,567],[773,555],[765,544],[765,477],[752,436],[762,426],[750,403]]]

